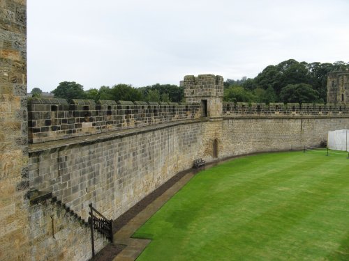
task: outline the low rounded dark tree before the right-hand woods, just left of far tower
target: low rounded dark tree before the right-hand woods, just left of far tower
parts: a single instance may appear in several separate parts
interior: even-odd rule
[[[311,103],[319,100],[319,93],[309,84],[289,84],[280,93],[283,102]]]

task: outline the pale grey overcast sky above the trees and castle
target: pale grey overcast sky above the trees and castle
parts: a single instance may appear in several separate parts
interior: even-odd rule
[[[255,77],[289,58],[349,61],[348,0],[28,0],[28,90]]]

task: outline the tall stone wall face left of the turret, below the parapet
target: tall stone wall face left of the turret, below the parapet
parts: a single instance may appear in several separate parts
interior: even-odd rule
[[[29,149],[30,186],[50,191],[83,219],[93,203],[116,219],[202,155],[200,120],[126,129]],[[69,145],[68,145],[69,144]]]

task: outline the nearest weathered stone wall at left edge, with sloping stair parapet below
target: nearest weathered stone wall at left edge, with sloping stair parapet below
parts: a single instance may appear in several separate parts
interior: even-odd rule
[[[0,1],[0,260],[89,260],[89,228],[62,205],[30,201],[26,9]]]

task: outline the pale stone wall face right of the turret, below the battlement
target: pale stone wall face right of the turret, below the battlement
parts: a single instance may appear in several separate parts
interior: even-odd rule
[[[218,155],[231,157],[254,152],[301,150],[327,141],[327,132],[349,127],[349,118],[225,118]]]

